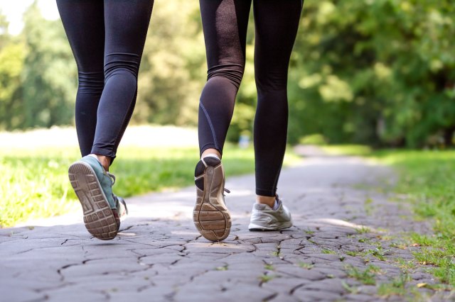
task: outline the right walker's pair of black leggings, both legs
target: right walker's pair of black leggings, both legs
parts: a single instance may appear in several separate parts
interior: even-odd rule
[[[199,148],[223,152],[245,68],[251,0],[200,0],[208,81],[200,96]],[[287,72],[302,0],[254,0],[256,194],[275,196],[287,142]]]

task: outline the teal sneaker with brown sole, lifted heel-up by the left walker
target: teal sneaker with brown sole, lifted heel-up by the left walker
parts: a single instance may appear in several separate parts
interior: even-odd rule
[[[95,157],[85,156],[71,164],[68,177],[82,205],[85,228],[98,239],[114,239],[128,213],[123,198],[112,193],[114,175]]]

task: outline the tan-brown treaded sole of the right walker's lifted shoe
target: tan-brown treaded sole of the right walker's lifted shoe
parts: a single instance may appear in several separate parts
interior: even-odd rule
[[[210,241],[221,241],[228,237],[231,218],[224,201],[218,202],[220,190],[223,194],[224,172],[222,164],[216,167],[205,167],[204,189],[196,187],[196,206],[193,210],[194,225],[200,235]]]

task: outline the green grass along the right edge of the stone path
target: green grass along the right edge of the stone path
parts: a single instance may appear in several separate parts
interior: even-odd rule
[[[431,220],[434,235],[412,235],[410,245],[423,248],[414,256],[431,264],[434,276],[455,286],[455,150],[379,150],[359,145],[326,146],[333,155],[360,155],[395,167],[395,192],[412,203],[416,220]],[[401,201],[402,202],[402,201]],[[376,253],[378,254],[378,253]],[[374,254],[373,254],[374,255]],[[377,257],[382,255],[376,255]],[[396,283],[396,282],[395,282]],[[400,282],[398,282],[400,283]],[[388,284],[382,291],[400,291]]]

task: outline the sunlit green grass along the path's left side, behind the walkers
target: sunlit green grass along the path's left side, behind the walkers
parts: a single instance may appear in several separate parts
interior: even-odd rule
[[[224,154],[227,177],[255,171],[252,148],[227,145]],[[79,157],[72,147],[0,148],[0,227],[78,211],[68,166]],[[296,158],[288,154],[285,164]],[[118,180],[114,192],[129,197],[191,186],[197,160],[196,147],[121,147],[110,171]]]

